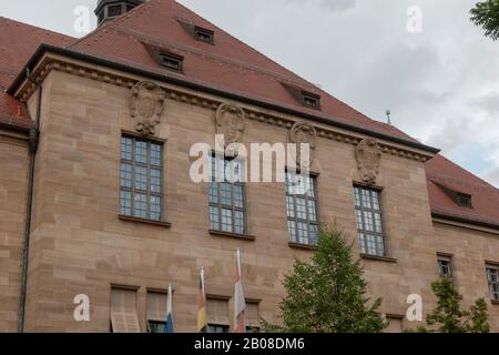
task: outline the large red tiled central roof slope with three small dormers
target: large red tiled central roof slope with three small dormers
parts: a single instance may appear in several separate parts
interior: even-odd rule
[[[196,41],[180,21],[213,30],[215,45]],[[176,74],[159,65],[144,43],[184,57],[184,73]],[[69,49],[415,141],[333,98],[174,0],[150,0]],[[322,112],[302,106],[283,83],[320,95]]]

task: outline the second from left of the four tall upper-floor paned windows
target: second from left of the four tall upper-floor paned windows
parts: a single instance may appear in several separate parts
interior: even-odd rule
[[[210,229],[246,234],[244,162],[214,155],[211,166]]]

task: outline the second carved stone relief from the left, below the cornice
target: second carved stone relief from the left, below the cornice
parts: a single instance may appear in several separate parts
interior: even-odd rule
[[[218,143],[227,148],[230,144],[241,142],[246,130],[246,114],[238,106],[222,103],[216,110],[215,124],[216,134],[224,135],[223,142],[218,141]]]

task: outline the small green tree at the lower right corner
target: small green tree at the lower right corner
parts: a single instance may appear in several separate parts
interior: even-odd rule
[[[479,298],[470,311],[461,310],[462,296],[457,292],[452,281],[442,277],[431,284],[437,296],[437,307],[427,315],[426,324],[438,333],[488,333],[487,304]],[[419,332],[428,332],[421,327]]]

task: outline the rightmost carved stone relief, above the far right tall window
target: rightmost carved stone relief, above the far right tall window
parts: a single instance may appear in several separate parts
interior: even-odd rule
[[[379,174],[381,149],[373,139],[365,139],[358,143],[356,152],[357,168],[363,182],[374,185]]]

